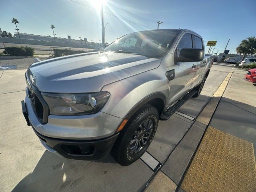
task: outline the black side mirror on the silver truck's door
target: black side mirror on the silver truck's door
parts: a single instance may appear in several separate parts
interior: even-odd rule
[[[176,62],[198,62],[204,60],[204,50],[197,48],[183,48]]]

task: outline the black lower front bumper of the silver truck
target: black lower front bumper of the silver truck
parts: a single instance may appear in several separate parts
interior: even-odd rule
[[[51,138],[44,136],[36,131],[30,123],[25,102],[22,101],[22,113],[27,121],[28,126],[32,126],[34,132],[42,142],[43,146],[50,152],[69,159],[77,160],[99,160],[106,157],[119,133],[108,138],[99,140],[69,140],[60,138]]]

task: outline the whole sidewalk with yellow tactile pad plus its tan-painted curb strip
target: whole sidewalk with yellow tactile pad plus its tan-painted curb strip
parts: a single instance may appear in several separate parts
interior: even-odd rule
[[[256,191],[256,87],[243,77],[228,74],[146,192]]]

